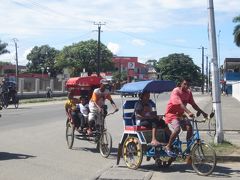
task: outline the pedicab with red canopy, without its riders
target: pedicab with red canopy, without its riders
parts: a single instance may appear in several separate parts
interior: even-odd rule
[[[66,82],[66,88],[68,91],[73,92],[74,96],[85,96],[89,100],[94,89],[100,86],[101,79],[102,78],[96,76],[70,78]],[[100,114],[101,122],[103,123],[100,126],[95,126],[92,134],[88,135],[86,129],[80,129],[79,123],[75,122],[71,116],[71,112],[68,112],[66,122],[66,141],[68,148],[72,149],[74,139],[89,141],[96,144],[100,154],[107,158],[112,149],[112,136],[107,131],[105,118],[113,113],[115,112],[108,113],[107,106],[105,105]]]

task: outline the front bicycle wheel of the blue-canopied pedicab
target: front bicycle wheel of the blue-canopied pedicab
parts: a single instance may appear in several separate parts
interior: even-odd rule
[[[209,144],[195,144],[191,158],[192,167],[199,175],[208,176],[216,167],[216,152]]]

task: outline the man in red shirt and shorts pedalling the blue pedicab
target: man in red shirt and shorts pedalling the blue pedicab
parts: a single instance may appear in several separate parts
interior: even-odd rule
[[[165,112],[165,121],[170,124],[173,128],[173,132],[169,138],[169,142],[166,145],[166,153],[168,156],[175,157],[176,154],[171,151],[171,145],[176,139],[180,130],[187,131],[187,142],[192,137],[192,125],[190,121],[181,119],[184,113],[188,114],[189,117],[193,117],[194,114],[187,108],[187,104],[198,112],[200,112],[205,118],[208,116],[203,110],[201,110],[193,99],[192,92],[189,89],[189,80],[183,79],[178,87],[174,88],[171,92],[169,102],[167,104]]]

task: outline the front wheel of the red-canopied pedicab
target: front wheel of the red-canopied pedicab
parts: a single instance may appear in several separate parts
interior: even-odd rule
[[[109,132],[105,131],[102,133],[99,142],[99,151],[104,158],[107,158],[112,149],[112,136]]]

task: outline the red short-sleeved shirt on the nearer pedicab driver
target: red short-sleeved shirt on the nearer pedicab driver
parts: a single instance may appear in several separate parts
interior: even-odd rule
[[[176,87],[173,89],[170,100],[167,104],[167,109],[165,112],[166,123],[171,123],[172,120],[178,119],[184,113],[184,109],[181,104],[185,106],[189,104],[194,104],[192,92],[190,90],[182,91],[181,88]]]

